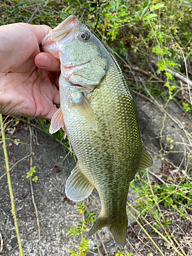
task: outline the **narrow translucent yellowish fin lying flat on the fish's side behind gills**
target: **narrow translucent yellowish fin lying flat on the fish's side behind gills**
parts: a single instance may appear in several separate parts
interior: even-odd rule
[[[78,99],[78,101],[74,101],[73,103],[76,105],[77,110],[81,113],[81,115],[84,118],[86,118],[86,120],[88,121],[89,124],[91,124],[93,129],[97,131],[97,123],[95,120],[95,115],[86,97],[84,97],[84,95],[81,93],[81,96]]]

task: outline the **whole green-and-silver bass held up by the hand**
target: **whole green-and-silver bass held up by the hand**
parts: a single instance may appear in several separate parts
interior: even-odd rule
[[[41,50],[60,60],[60,108],[50,133],[61,127],[77,157],[66,182],[73,201],[97,189],[101,211],[89,231],[107,226],[123,248],[130,182],[153,164],[142,143],[136,103],[120,66],[94,31],[69,16],[41,41]]]

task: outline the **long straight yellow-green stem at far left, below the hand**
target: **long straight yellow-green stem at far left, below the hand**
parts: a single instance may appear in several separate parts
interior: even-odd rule
[[[4,156],[5,156],[5,162],[6,162],[7,181],[8,181],[9,194],[10,194],[10,199],[11,199],[11,208],[12,208],[13,220],[14,220],[14,224],[15,224],[15,230],[16,230],[16,236],[17,236],[18,248],[19,248],[20,256],[23,256],[24,253],[23,253],[23,248],[22,248],[22,241],[20,240],[19,228],[18,228],[16,213],[15,213],[15,204],[14,204],[12,185],[11,185],[9,160],[8,160],[8,155],[7,155],[7,148],[6,148],[6,141],[5,141],[5,133],[4,133],[4,125],[3,125],[2,114],[0,114],[0,123],[1,123],[1,131],[2,131],[2,139],[3,139],[3,149],[4,149]]]

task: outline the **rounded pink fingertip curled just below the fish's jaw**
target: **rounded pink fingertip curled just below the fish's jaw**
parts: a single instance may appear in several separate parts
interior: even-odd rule
[[[60,74],[60,61],[49,53],[40,52],[35,56],[35,65],[40,69]]]

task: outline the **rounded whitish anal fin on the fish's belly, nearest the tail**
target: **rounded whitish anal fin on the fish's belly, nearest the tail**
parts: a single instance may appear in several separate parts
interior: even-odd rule
[[[81,201],[89,197],[93,189],[93,184],[82,173],[77,163],[66,182],[66,196],[70,200]]]

